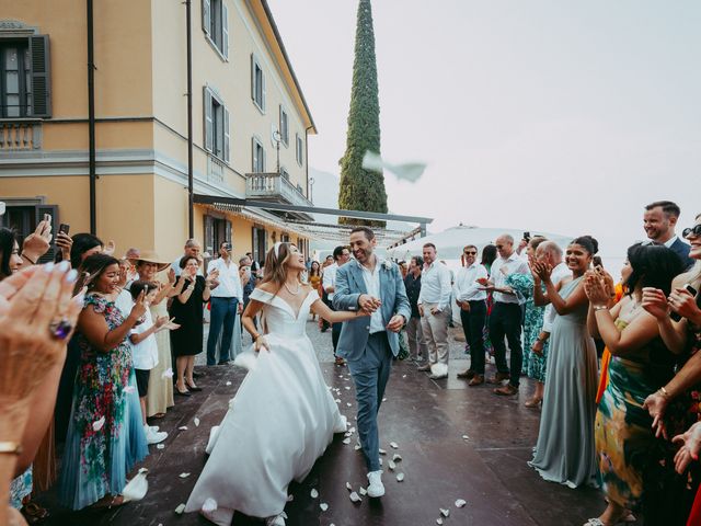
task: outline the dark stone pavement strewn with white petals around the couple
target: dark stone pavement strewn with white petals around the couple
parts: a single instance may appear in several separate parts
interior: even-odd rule
[[[455,331],[453,331],[455,332]],[[340,388],[341,411],[353,425],[354,386],[347,368],[333,365],[331,332],[320,333],[308,323],[326,382]],[[244,340],[244,343],[250,343]],[[381,447],[387,494],[381,500],[363,499],[354,504],[346,482],[354,490],[366,484],[360,451],[343,444],[336,435],[326,453],[301,483],[292,483],[294,500],[286,507],[289,526],[435,525],[440,508],[449,510],[445,525],[582,525],[598,516],[605,503],[593,489],[570,490],[543,481],[526,462],[536,442],[540,412],[524,408],[531,386],[524,382],[516,398],[501,398],[490,387],[468,388],[455,378],[467,367],[463,343],[451,341],[450,378],[430,380],[407,362],[398,362],[380,410]],[[198,380],[203,392],[176,400],[158,424],[170,433],[163,449],[151,446],[145,461],[149,469],[149,492],[136,503],[110,512],[68,513],[55,506],[51,494],[43,501],[50,507],[49,525],[189,526],[209,524],[197,514],[177,515],[206,461],[209,428],[223,416],[245,371],[234,366],[203,367]],[[228,385],[229,384],[229,385]],[[349,387],[349,389],[346,389]],[[199,419],[196,426],[194,419]],[[187,430],[179,430],[187,426]],[[391,442],[399,446],[393,449]],[[389,458],[400,454],[394,472]],[[233,467],[235,469],[235,467]],[[404,473],[398,482],[395,474]],[[181,473],[189,473],[181,478]],[[311,498],[311,490],[319,492]],[[457,508],[456,500],[467,505]],[[327,504],[322,511],[321,503]],[[234,525],[260,525],[260,521],[237,515]]]

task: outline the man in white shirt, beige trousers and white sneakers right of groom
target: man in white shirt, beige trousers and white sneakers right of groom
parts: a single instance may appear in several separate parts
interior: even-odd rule
[[[421,276],[418,313],[424,340],[428,346],[428,363],[418,370],[430,370],[434,380],[448,377],[448,316],[451,313],[450,271],[436,261],[436,245],[424,244],[424,272]]]

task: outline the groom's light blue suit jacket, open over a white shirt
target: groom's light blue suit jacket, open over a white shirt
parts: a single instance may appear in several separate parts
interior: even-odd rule
[[[379,265],[378,261],[378,265]],[[411,307],[406,298],[406,290],[399,266],[391,263],[390,268],[384,264],[380,266],[380,300],[384,325],[394,315],[402,315],[404,320],[411,317]],[[363,270],[357,261],[350,261],[338,268],[336,273],[336,287],[333,294],[333,307],[336,310],[358,310],[358,298],[361,294],[368,294],[363,278]],[[341,329],[341,336],[336,347],[336,354],[348,361],[355,362],[363,357],[363,352],[370,335],[370,318],[363,317],[345,321]],[[399,335],[387,331],[392,354],[399,354]]]

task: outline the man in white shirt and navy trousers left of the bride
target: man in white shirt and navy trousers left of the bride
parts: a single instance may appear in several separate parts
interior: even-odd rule
[[[239,276],[239,265],[231,261],[231,243],[225,241],[219,245],[219,255],[209,262],[207,274],[219,271],[219,285],[211,290],[209,317],[209,336],[207,338],[207,365],[217,364],[217,343],[221,335],[221,347],[219,347],[219,365],[229,363],[229,350],[231,348],[231,338],[233,336],[233,322],[237,312],[243,310],[243,287]]]

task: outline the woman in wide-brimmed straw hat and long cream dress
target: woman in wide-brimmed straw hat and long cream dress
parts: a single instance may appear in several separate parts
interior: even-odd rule
[[[162,262],[156,252],[143,252],[139,259],[133,260],[139,279],[159,285],[159,291],[152,301],[149,301],[151,318],[157,320],[168,317],[168,301],[180,295],[184,281],[175,286],[175,272],[171,268],[168,273],[168,282],[158,279],[158,274],[169,267],[169,263]],[[173,400],[173,359],[171,354],[170,331],[159,331],[154,334],[158,350],[158,361],[150,369],[148,382],[148,396],[146,397],[146,414],[149,418],[163,418],[168,408],[172,408]],[[170,374],[169,374],[170,373]]]

